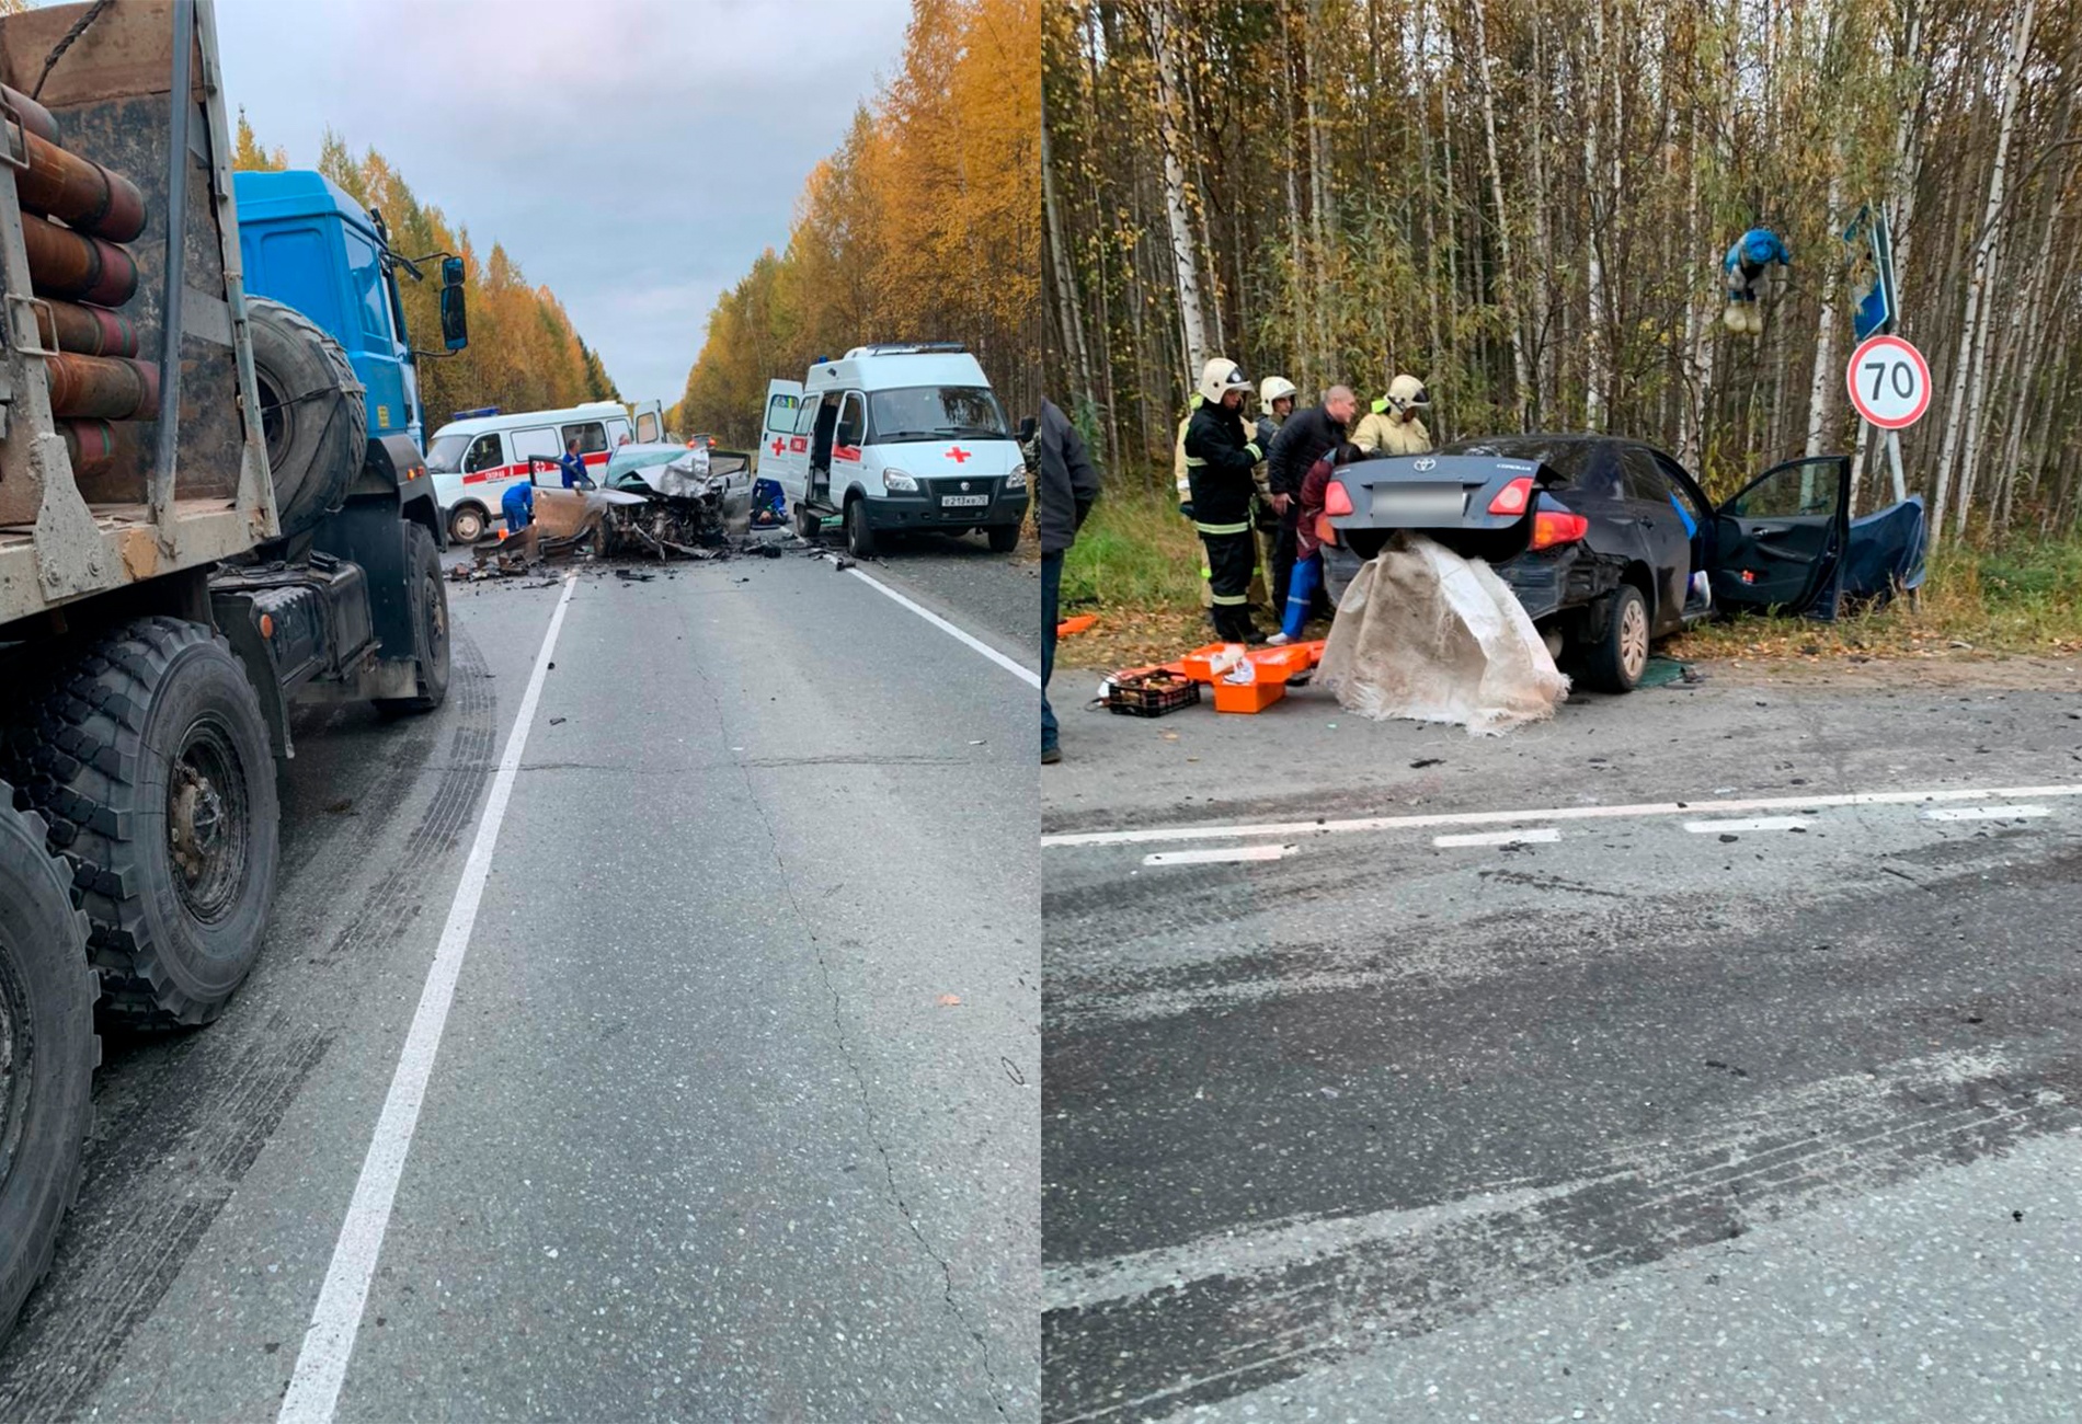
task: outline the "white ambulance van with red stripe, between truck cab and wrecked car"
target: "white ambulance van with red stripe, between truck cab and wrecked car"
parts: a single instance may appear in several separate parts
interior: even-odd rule
[[[629,408],[595,400],[566,410],[466,410],[437,429],[427,441],[427,473],[450,537],[477,543],[500,516],[500,495],[527,481],[535,462],[562,460],[564,441],[573,437],[598,481],[614,448],[635,439]]]

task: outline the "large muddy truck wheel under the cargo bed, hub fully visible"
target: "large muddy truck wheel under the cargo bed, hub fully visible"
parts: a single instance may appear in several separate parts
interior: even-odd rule
[[[275,758],[231,645],[123,625],[29,704],[4,772],[73,864],[108,1018],[217,1018],[260,956],[281,858]]]

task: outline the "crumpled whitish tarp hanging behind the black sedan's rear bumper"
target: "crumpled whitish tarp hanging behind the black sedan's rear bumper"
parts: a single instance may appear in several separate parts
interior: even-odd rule
[[[1397,535],[1337,606],[1320,681],[1376,720],[1501,735],[1555,714],[1568,679],[1518,595],[1482,560]]]

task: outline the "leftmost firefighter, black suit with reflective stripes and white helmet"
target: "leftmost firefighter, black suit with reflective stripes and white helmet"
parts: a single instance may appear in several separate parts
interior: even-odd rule
[[[1193,483],[1193,529],[1208,548],[1208,589],[1214,597],[1214,633],[1228,643],[1262,643],[1251,622],[1251,471],[1266,458],[1243,418],[1251,389],[1243,368],[1216,356],[1199,375],[1199,410],[1185,427],[1185,466]],[[1299,487],[1299,485],[1297,485]]]

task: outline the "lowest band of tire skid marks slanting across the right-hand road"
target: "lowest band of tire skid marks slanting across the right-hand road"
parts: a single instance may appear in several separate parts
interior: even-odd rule
[[[1045,1418],[1160,1418],[1276,1384],[1372,1343],[1422,1334],[1507,1297],[1597,1280],[1741,1237],[2047,1133],[2082,1130],[2053,1083],[1990,1056],[1911,1060],[1774,1093],[1678,1143],[1595,1153],[1584,1176],[1434,1230],[1197,1278],[1133,1266],[1051,1268]],[[1788,1133],[1786,1122],[1803,1128]],[[1118,1280],[1108,1282],[1108,1272]],[[1093,1285],[1097,1282],[1097,1285]]]

